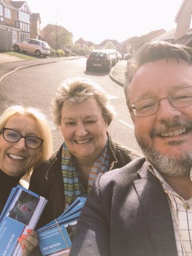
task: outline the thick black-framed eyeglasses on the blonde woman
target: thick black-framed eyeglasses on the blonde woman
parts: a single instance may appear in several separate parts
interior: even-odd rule
[[[19,141],[21,138],[24,138],[26,146],[30,149],[39,149],[44,142],[43,139],[33,136],[25,137],[20,133],[16,132],[15,130],[9,128],[3,128],[2,132],[4,139],[8,142],[14,143]]]

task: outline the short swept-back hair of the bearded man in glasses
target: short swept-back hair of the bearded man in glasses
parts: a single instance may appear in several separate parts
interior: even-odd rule
[[[127,106],[129,101],[129,85],[132,81],[136,71],[147,62],[155,62],[157,60],[175,58],[178,63],[179,60],[186,61],[189,65],[192,62],[192,48],[185,45],[170,44],[164,41],[151,41],[144,44],[136,53],[135,58],[127,62],[125,71],[125,85],[124,92]],[[130,109],[129,109],[130,111]]]

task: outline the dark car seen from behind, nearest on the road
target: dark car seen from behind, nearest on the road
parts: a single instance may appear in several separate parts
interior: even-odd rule
[[[109,72],[111,66],[112,58],[109,52],[105,50],[92,50],[86,62],[86,70],[90,68],[102,68]]]

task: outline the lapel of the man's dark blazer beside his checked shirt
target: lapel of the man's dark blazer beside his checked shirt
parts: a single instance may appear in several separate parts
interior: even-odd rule
[[[158,256],[175,256],[177,247],[174,227],[166,194],[160,181],[147,168],[138,172],[141,179],[135,180],[151,241]]]

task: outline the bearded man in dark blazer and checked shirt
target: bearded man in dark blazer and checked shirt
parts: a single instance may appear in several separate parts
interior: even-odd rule
[[[192,49],[149,42],[125,96],[145,155],[98,176],[70,256],[192,255]]]

